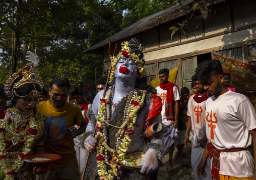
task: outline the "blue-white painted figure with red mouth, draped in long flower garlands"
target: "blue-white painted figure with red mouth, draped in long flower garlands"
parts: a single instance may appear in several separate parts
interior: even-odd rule
[[[156,133],[162,127],[162,103],[155,88],[146,83],[142,46],[136,39],[124,42],[121,52],[110,59],[107,95],[103,97],[100,91],[87,111],[90,122],[81,142],[91,153],[84,179],[156,179],[150,173],[163,158],[163,136]],[[97,135],[93,137],[95,125]],[[151,142],[146,144],[145,136]],[[139,151],[145,153],[136,164],[142,165],[140,171],[121,165],[126,154]]]

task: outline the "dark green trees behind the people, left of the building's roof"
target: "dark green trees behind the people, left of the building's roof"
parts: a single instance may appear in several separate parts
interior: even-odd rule
[[[56,76],[72,84],[95,83],[102,57],[83,51],[174,0],[0,0],[1,84],[24,67],[26,51],[39,56],[40,74],[48,87]]]

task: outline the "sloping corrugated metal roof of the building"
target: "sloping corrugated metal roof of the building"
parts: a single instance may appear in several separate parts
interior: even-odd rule
[[[153,15],[150,15],[146,18],[141,19],[140,21],[134,23],[133,25],[125,28],[123,31],[113,35],[110,37],[111,43],[114,43],[118,40],[124,39],[126,37],[133,36],[135,34],[141,33],[148,29],[154,28],[171,20],[175,20],[181,16],[186,15],[186,11],[182,11],[185,7],[193,2],[194,0],[188,0],[182,3],[182,6],[175,5],[173,7],[167,8],[160,12],[157,12]],[[84,51],[84,53],[90,53],[95,51],[96,49],[108,45],[108,39],[101,41],[100,43],[92,46],[91,48]]]

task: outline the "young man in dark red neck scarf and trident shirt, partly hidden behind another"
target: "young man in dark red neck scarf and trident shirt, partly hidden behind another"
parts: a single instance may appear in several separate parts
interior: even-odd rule
[[[189,132],[192,132],[191,138],[191,166],[195,172],[196,180],[199,180],[197,175],[197,167],[201,161],[204,153],[204,146],[206,145],[206,127],[205,127],[205,111],[206,100],[210,97],[204,90],[204,84],[198,81],[196,75],[192,78],[192,81],[197,88],[197,94],[190,96],[187,107],[187,128],[184,139],[185,146],[188,147]],[[207,173],[211,173],[211,160],[207,159],[207,166],[205,168]],[[202,179],[210,180],[211,176],[203,177]]]

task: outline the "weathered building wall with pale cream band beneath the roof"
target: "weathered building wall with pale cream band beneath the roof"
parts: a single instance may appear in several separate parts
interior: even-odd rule
[[[198,26],[198,22],[195,21],[186,27],[195,35],[189,35],[188,38],[180,32],[171,39],[169,28],[172,25],[157,27],[142,33],[141,36],[137,35],[144,47],[148,80],[158,78],[158,71],[165,64],[169,69],[179,65],[176,84],[179,88],[189,87],[188,77],[193,75],[202,57],[209,58],[210,54],[211,58],[213,53],[255,65],[256,12],[254,7],[255,1],[244,0],[215,9],[209,14],[210,18],[201,25]],[[109,58],[105,55],[107,51],[108,47],[104,47],[105,72],[110,65]],[[200,59],[199,62],[198,59]]]

